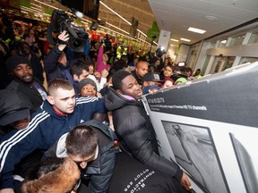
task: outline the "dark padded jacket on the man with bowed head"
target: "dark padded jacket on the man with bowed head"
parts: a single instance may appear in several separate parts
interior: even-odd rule
[[[90,120],[80,125],[90,125],[98,136],[99,155],[87,164],[86,170],[82,170],[82,178],[90,179],[89,188],[91,193],[106,193],[116,164],[116,151],[111,131],[102,122]],[[47,156],[55,156],[56,148],[59,153],[65,149],[59,148],[56,144],[45,152]],[[60,147],[64,147],[62,144]]]

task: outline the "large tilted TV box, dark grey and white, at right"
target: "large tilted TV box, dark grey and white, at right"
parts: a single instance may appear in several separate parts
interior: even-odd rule
[[[142,99],[160,154],[196,192],[258,192],[258,62]]]

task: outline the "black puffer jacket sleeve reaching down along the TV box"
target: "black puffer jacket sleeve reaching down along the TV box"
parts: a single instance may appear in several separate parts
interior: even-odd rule
[[[128,129],[130,125],[130,129]],[[155,152],[151,144],[150,129],[147,128],[146,120],[138,113],[127,115],[125,119],[115,125],[119,129],[119,138],[129,152],[143,164],[150,165],[161,172],[175,177],[181,181],[183,171],[173,161],[161,157]]]

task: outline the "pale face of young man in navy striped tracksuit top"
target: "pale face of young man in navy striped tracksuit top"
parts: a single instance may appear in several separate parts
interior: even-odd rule
[[[47,100],[54,105],[56,110],[62,113],[73,113],[75,106],[74,89],[57,88],[51,96],[47,96]]]

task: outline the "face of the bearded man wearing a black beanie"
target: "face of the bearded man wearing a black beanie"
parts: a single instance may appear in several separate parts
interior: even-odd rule
[[[25,83],[31,83],[33,81],[33,71],[27,63],[16,65],[13,69],[13,75]]]

